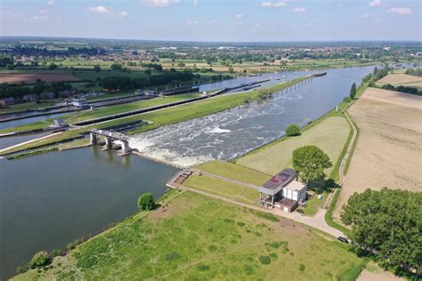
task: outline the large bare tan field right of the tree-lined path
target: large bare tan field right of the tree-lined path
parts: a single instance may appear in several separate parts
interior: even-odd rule
[[[422,97],[368,88],[349,109],[360,129],[337,202],[365,189],[422,190]]]

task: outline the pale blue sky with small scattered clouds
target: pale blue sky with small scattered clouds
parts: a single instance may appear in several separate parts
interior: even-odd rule
[[[422,40],[419,0],[0,0],[1,36]]]

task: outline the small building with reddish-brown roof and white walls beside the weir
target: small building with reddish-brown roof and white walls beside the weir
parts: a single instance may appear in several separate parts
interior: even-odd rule
[[[265,182],[259,187],[261,205],[293,212],[306,200],[306,184],[298,176],[294,169],[284,169]]]

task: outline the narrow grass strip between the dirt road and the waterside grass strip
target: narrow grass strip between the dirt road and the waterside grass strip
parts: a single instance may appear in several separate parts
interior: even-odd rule
[[[259,199],[259,192],[256,189],[249,189],[207,175],[191,175],[183,185],[190,189],[205,191],[219,197],[228,198],[248,205],[256,205],[256,201]]]

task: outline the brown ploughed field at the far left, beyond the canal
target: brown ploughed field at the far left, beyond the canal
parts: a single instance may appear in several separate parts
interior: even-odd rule
[[[37,79],[41,79],[47,83],[67,81],[74,82],[79,81],[79,78],[72,76],[70,73],[51,73],[51,72],[0,72],[0,83],[9,84],[20,84],[21,82],[26,84],[35,84]]]

